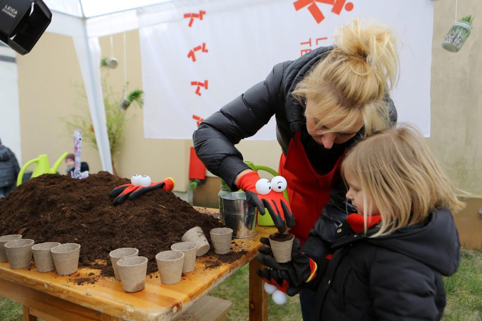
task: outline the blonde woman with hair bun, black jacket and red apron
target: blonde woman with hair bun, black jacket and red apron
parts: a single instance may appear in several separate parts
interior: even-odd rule
[[[196,154],[231,189],[245,190],[260,212],[267,207],[280,232],[285,223],[292,227],[302,243],[323,210],[319,233],[329,240],[346,217],[346,189],[339,175],[343,155],[355,141],[396,123],[388,93],[397,75],[391,30],[352,20],[337,30],[334,46],[279,63],[266,80],[200,123],[193,134]],[[289,204],[282,193],[256,191],[259,176],[234,146],[272,116],[283,152],[278,173],[287,180]],[[304,250],[323,255],[318,245],[316,239]],[[300,301],[309,318],[312,296],[301,295]]]

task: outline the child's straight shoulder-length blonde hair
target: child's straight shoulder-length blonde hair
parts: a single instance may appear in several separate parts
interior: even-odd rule
[[[373,237],[422,223],[435,208],[455,213],[465,205],[411,125],[381,130],[357,143],[343,161],[342,175],[347,172],[363,191],[365,222],[374,206],[381,215],[381,227]]]

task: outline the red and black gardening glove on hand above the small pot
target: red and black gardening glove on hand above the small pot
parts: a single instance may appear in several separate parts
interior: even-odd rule
[[[283,233],[285,231],[285,224],[288,225],[288,227],[295,225],[291,207],[283,196],[283,193],[274,191],[271,187],[269,187],[270,190],[266,195],[259,194],[256,190],[256,182],[259,180],[261,179],[258,173],[249,172],[239,178],[237,185],[245,191],[246,200],[256,206],[261,215],[265,215],[265,207],[268,209],[274,226],[276,226],[280,233]]]

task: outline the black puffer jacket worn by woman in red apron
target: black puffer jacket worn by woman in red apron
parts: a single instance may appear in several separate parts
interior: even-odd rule
[[[343,145],[335,144],[331,149],[323,148],[308,135],[305,107],[293,98],[291,92],[308,71],[324,59],[333,48],[319,47],[296,60],[278,63],[266,80],[255,84],[201,122],[193,134],[193,142],[196,154],[206,168],[236,190],[234,178],[249,167],[243,162],[243,155],[234,145],[256,134],[274,115],[276,137],[285,155],[291,138],[297,132],[301,132],[302,137],[307,137],[302,142],[311,164],[316,168],[317,160],[330,159],[331,170],[332,165],[345,152],[345,147],[351,146],[363,136],[364,129]],[[395,124],[397,113],[393,101],[388,95],[385,96],[385,100],[390,120]],[[339,179],[332,188],[330,202],[323,210],[322,219],[318,220],[315,229],[312,230],[313,238],[308,239],[306,248],[304,245],[307,254],[323,256],[322,242],[331,238],[336,225],[347,215],[345,195],[346,187]],[[351,209],[350,212],[354,211]]]

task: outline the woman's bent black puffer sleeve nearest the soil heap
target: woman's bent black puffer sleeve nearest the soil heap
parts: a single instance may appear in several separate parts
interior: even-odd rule
[[[284,64],[274,66],[265,81],[255,84],[201,122],[193,134],[197,157],[231,188],[237,189],[234,178],[249,168],[234,145],[256,134],[275,114],[276,106],[283,105]]]

